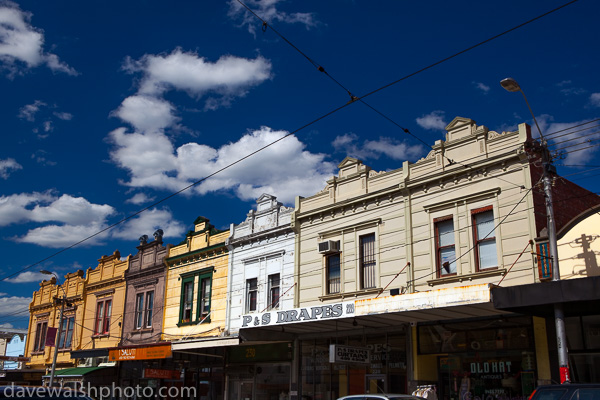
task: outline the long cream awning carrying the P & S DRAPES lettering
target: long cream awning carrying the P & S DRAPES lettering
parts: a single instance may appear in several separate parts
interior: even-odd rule
[[[312,339],[328,335],[352,335],[361,332],[398,331],[406,324],[445,321],[453,319],[490,317],[507,314],[506,310],[494,308],[490,284],[459,286],[416,292],[397,296],[385,296],[355,300],[353,315],[342,318],[326,318],[292,323],[276,323],[268,326],[251,324],[240,329],[244,341],[267,342]],[[345,304],[347,301],[344,301]],[[321,306],[332,304],[322,303]],[[315,305],[319,306],[319,305]],[[310,307],[309,309],[310,314]],[[302,309],[297,309],[298,313]],[[281,310],[283,311],[283,310]],[[271,321],[277,319],[277,311]],[[257,314],[260,317],[260,314]]]

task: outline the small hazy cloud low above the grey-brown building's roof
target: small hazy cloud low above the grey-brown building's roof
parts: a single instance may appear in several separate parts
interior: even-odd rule
[[[164,237],[181,237],[185,233],[185,225],[173,219],[167,209],[152,209],[130,219],[112,232],[113,237],[136,240],[142,235],[151,236],[157,229],[162,229]]]

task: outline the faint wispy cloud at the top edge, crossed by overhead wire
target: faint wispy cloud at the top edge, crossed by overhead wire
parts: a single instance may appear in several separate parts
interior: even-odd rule
[[[259,17],[270,23],[302,24],[306,29],[317,25],[313,13],[294,12],[286,13],[278,10],[277,5],[282,0],[247,0],[246,5],[252,9]],[[256,28],[260,26],[260,21],[252,15],[244,6],[236,0],[229,1],[228,15],[234,20],[240,21],[240,27],[247,27],[248,32],[256,36]]]

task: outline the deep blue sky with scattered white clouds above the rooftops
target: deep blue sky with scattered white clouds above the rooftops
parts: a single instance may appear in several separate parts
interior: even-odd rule
[[[359,97],[564,3],[246,2]],[[262,193],[293,205],[346,156],[399,168],[456,116],[496,131],[531,123],[523,98],[500,87],[505,77],[546,134],[596,119],[599,14],[600,3],[580,0],[364,99],[395,124],[354,102],[300,129],[349,94],[237,1],[0,1],[0,278],[15,274],[0,282],[0,326],[26,327],[18,312],[40,269],[93,268],[115,249],[135,253],[159,227],[179,243],[199,215],[228,228]],[[555,149],[587,140],[556,163],[598,192],[596,125],[565,131]],[[577,140],[558,143],[566,138]]]

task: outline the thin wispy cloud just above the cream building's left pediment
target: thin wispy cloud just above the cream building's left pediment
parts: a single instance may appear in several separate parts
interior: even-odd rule
[[[393,160],[408,160],[417,158],[423,153],[423,147],[420,145],[409,145],[388,137],[365,140],[360,144],[358,135],[354,133],[337,136],[332,142],[332,146],[337,152],[344,152],[348,156],[362,160],[378,159],[382,155]]]

